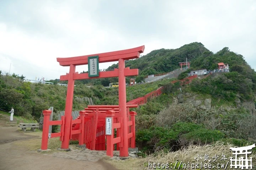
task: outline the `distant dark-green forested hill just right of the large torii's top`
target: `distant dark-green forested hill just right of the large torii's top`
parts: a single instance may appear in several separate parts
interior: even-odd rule
[[[126,61],[126,67],[138,68],[139,75],[146,76],[151,74],[167,73],[180,68],[179,62],[185,62],[186,58],[191,61],[208,49],[200,42],[193,42],[183,45],[178,49],[159,49],[154,50],[135,60]],[[113,64],[107,70],[118,68],[118,64]]]

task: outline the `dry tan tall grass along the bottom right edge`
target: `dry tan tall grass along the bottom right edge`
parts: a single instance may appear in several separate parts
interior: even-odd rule
[[[227,144],[225,145],[222,142],[216,142],[213,145],[190,145],[186,148],[180,149],[176,152],[159,152],[158,154],[155,155],[150,155],[149,157],[145,158],[144,160],[144,167],[148,166],[149,162],[150,163],[160,163],[160,164],[167,164],[169,163],[169,165],[171,165],[172,163],[172,169],[174,169],[174,166],[176,164],[176,162],[178,162],[177,164],[179,165],[181,163],[181,167],[183,164],[186,164],[186,169],[192,169],[191,166],[188,167],[187,164],[188,162],[190,163],[190,165],[192,163],[199,163],[199,168],[197,169],[205,169],[205,168],[201,168],[201,162],[202,165],[204,165],[205,163],[207,164],[211,164],[212,166],[215,167],[215,169],[217,169],[217,167],[221,166],[221,165],[217,165],[219,164],[224,164],[225,166],[229,161],[229,164],[227,166],[226,169],[230,169],[230,157],[234,156],[232,155],[232,151],[229,149],[230,147],[234,147],[234,145],[231,144]],[[199,160],[197,161],[199,155]],[[205,155],[209,156],[208,160],[211,160],[211,162],[208,162],[208,160],[204,161]],[[225,162],[224,160],[220,160],[223,158],[223,155],[225,155]],[[218,158],[217,158],[218,156]],[[238,156],[241,157],[244,155],[240,155]],[[201,159],[201,158],[202,159]],[[214,158],[213,158],[214,157]],[[256,154],[252,153],[249,155],[249,157],[252,157],[253,161],[252,161],[252,167],[256,168],[256,161],[255,161],[255,157]],[[196,158],[196,159],[195,159]],[[217,158],[215,161],[214,159]],[[214,161],[214,162],[213,162]],[[234,163],[233,163],[234,164]],[[178,166],[176,167],[176,169],[178,168]],[[183,168],[180,169],[185,169],[185,165],[183,166]],[[233,167],[234,169],[234,167]]]

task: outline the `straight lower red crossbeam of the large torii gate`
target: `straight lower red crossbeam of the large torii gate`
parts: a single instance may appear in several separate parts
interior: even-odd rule
[[[124,76],[139,75],[138,69],[124,69]],[[68,80],[69,74],[61,75],[60,81]],[[99,72],[99,77],[89,77],[88,73],[74,74],[74,80],[98,79],[106,77],[118,77],[118,69],[107,72]]]

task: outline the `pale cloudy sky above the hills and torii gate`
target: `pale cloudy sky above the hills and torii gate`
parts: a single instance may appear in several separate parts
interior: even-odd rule
[[[0,70],[59,79],[69,67],[57,57],[196,41],[214,53],[229,47],[256,70],[255,32],[254,0],[0,0]]]

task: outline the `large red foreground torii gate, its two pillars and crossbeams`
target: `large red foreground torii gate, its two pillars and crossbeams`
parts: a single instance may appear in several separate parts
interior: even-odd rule
[[[73,95],[74,95],[74,83],[75,80],[81,79],[93,79],[93,78],[107,78],[107,77],[118,77],[118,97],[119,97],[119,113],[123,120],[122,129],[123,129],[123,147],[120,147],[120,156],[128,157],[128,128],[127,128],[127,111],[126,111],[126,80],[125,76],[138,75],[138,69],[129,69],[125,68],[124,61],[134,58],[139,58],[140,53],[144,51],[144,45],[136,47],[133,49],[99,53],[94,55],[78,56],[78,57],[69,57],[69,58],[57,58],[60,66],[69,66],[69,73],[66,75],[61,75],[60,80],[68,80],[68,89],[66,95],[66,105],[65,105],[65,125],[64,125],[64,136],[61,145],[61,149],[69,148],[69,140],[71,138],[71,112],[73,107]],[[75,66],[90,64],[90,58],[97,58],[98,63],[118,61],[118,69],[107,72],[98,72],[98,74],[90,75],[89,73],[77,73],[75,72]],[[98,66],[95,65],[95,67]],[[90,69],[90,68],[89,68]],[[93,77],[92,77],[93,76]]]

